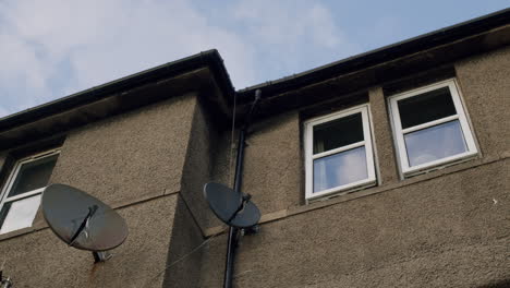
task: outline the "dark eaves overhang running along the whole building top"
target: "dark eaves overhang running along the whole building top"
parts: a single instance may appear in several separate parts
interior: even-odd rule
[[[386,85],[510,44],[510,9],[235,92],[217,50],[201,52],[0,119],[0,151],[189,92],[217,119],[245,112],[256,89],[260,117]]]

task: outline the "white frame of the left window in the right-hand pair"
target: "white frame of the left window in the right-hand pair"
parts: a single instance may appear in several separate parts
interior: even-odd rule
[[[335,149],[326,151],[326,152],[314,155],[314,148],[313,148],[314,147],[314,127],[332,121],[332,120],[344,118],[354,113],[362,115],[364,140],[353,143],[353,144],[349,144],[345,146],[341,146]],[[315,159],[330,156],[333,154],[338,154],[344,151],[362,147],[362,146],[365,146],[365,160],[366,160],[366,168],[367,168],[367,176],[368,176],[366,179],[314,193],[314,160]],[[305,121],[304,122],[304,149],[305,149],[305,173],[306,173],[306,177],[305,177],[306,203],[317,200],[317,199],[327,199],[328,196],[333,196],[333,195],[337,196],[339,194],[349,193],[355,190],[375,185],[377,183],[375,161],[374,161],[374,143],[373,143],[373,135],[372,135],[372,123],[371,123],[371,113],[369,113],[368,104],[356,106],[347,110],[341,110],[341,111],[330,113],[327,116],[313,118],[313,119]]]

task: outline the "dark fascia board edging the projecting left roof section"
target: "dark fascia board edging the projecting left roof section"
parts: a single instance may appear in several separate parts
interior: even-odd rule
[[[210,69],[212,77],[223,96],[235,93],[221,56],[218,50],[211,49],[0,118],[0,131],[35,122],[83,105],[98,101],[118,93],[178,76],[201,68]]]

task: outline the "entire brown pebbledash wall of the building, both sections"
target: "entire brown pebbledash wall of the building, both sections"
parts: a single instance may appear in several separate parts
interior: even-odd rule
[[[399,178],[386,84],[340,105],[317,103],[254,123],[243,191],[263,217],[258,233],[241,238],[234,287],[510,285],[510,48],[448,67],[452,74],[433,70],[425,82],[437,74],[457,79],[481,153],[441,170]],[[320,83],[315,88],[324,91]],[[230,124],[216,119],[203,93],[173,95],[63,135],[50,181],[114,207],[130,235],[112,259],[94,264],[89,252],[58,240],[39,213],[34,227],[0,236],[14,288],[221,287],[226,227],[208,211],[202,188],[231,184],[235,151]],[[303,120],[311,110],[366,101],[378,185],[305,204]],[[10,152],[0,152],[0,165]]]

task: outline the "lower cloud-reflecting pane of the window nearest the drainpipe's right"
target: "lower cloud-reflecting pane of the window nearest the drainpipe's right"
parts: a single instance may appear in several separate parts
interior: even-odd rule
[[[314,160],[314,192],[366,178],[368,172],[364,146]]]

